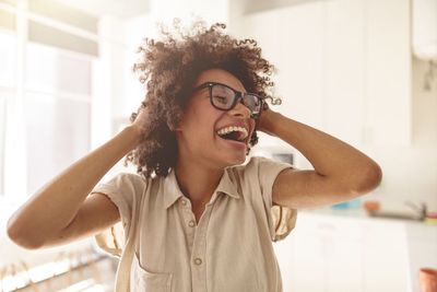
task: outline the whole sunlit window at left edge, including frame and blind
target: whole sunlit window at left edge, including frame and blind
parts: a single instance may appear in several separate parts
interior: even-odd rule
[[[98,58],[96,17],[26,3],[0,1],[0,196],[12,203],[90,151]]]

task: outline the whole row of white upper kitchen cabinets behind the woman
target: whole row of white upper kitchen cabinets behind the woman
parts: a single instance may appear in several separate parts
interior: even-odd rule
[[[410,23],[409,0],[330,0],[245,15],[243,30],[279,69],[280,112],[352,144],[408,145]]]

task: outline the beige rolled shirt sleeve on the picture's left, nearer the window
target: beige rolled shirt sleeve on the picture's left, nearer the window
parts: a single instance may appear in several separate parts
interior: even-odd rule
[[[96,244],[106,253],[119,257],[129,237],[133,206],[139,207],[146,182],[137,174],[120,173],[101,183],[90,192],[104,194],[118,208],[121,221],[95,235]],[[137,208],[138,209],[138,208]]]

